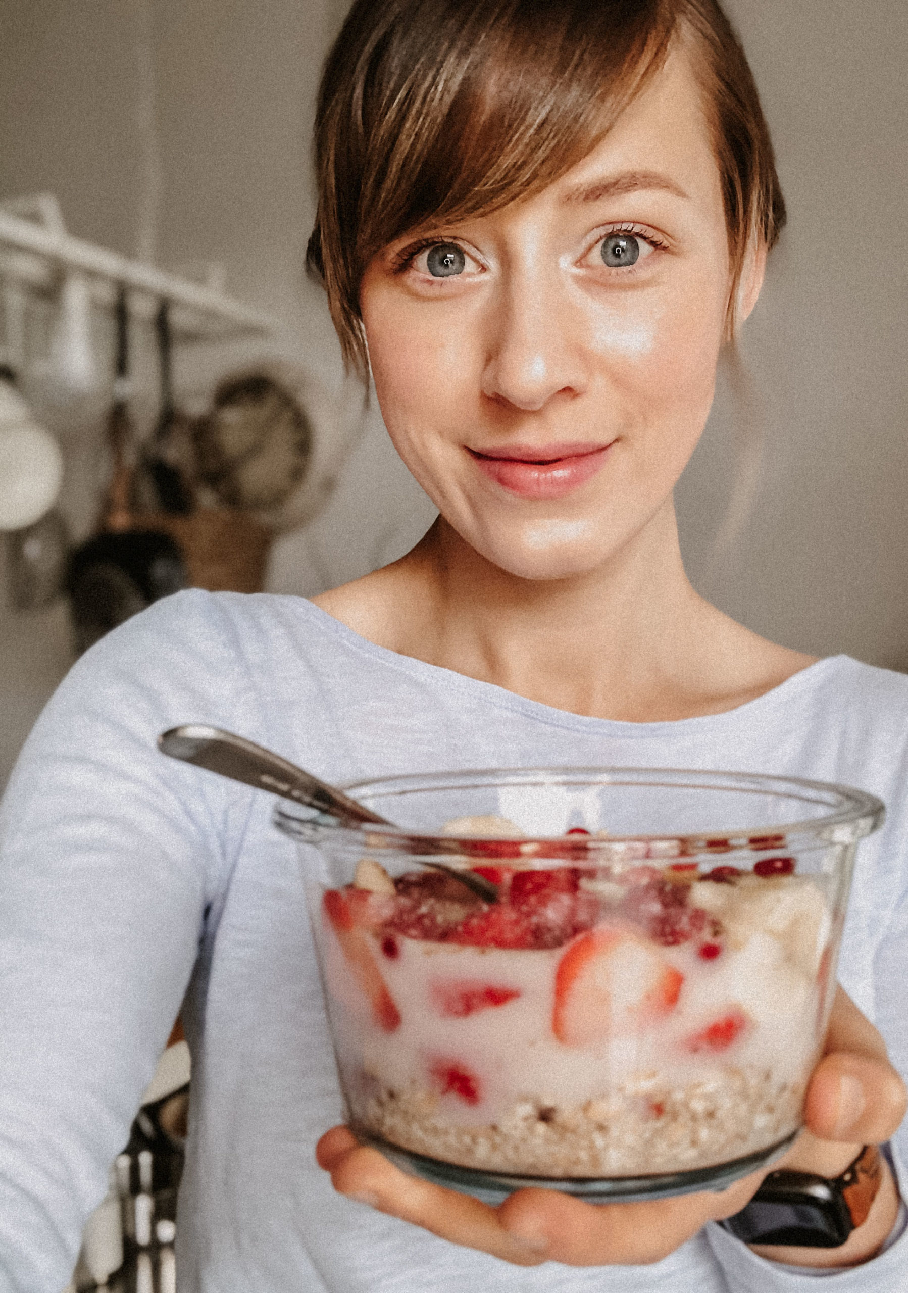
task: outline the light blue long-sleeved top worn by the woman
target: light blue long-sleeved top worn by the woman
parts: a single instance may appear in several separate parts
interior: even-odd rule
[[[336,1195],[313,1159],[340,1098],[297,852],[269,795],[157,751],[159,732],[193,721],[341,784],[630,764],[873,791],[889,816],[859,847],[839,978],[908,1071],[908,678],[834,657],[728,714],[617,723],[375,646],[297,597],[178,593],[75,665],[0,809],[0,1293],[69,1279],[181,1007],[181,1293],[816,1288],[715,1226],[656,1266],[528,1270]],[[824,1279],[907,1289],[908,1235]]]

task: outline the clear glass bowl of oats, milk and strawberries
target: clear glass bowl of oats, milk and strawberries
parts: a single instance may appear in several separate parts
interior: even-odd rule
[[[785,1151],[878,799],[661,768],[345,789],[395,825],[276,824],[363,1142],[493,1202],[720,1190]]]

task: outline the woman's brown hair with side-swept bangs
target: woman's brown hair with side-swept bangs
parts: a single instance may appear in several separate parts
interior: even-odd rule
[[[378,251],[560,178],[675,39],[696,58],[714,134],[731,335],[748,247],[772,247],[785,203],[753,74],[717,0],[356,0],[318,96],[307,253],[345,362],[367,372],[358,294]]]

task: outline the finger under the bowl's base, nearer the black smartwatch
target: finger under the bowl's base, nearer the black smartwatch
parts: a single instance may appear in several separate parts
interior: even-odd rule
[[[552,1190],[520,1190],[498,1209],[502,1224],[565,1266],[647,1266],[660,1262],[708,1221],[740,1212],[766,1173],[718,1193],[654,1202],[594,1205]]]

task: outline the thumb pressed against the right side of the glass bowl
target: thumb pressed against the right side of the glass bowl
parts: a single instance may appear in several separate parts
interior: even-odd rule
[[[878,1144],[898,1129],[905,1107],[905,1085],[889,1062],[886,1043],[838,988],[825,1054],[807,1089],[807,1126],[825,1140]]]

